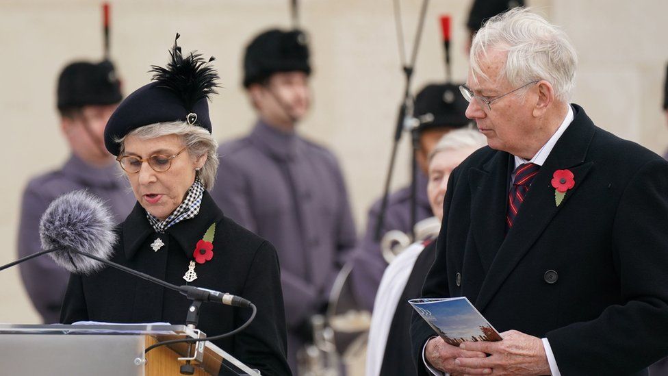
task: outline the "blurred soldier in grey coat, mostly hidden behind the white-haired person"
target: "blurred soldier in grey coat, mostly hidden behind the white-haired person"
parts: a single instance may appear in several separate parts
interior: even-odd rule
[[[418,132],[420,147],[416,151],[418,177],[415,200],[415,221],[422,221],[434,214],[431,212],[427,192],[427,156],[437,142],[452,129],[470,124],[464,112],[467,102],[459,94],[454,84],[427,85],[415,97],[415,118],[420,125],[413,131]],[[366,232],[357,244],[350,272],[350,283],[355,299],[360,308],[372,310],[378,284],[381,283],[387,262],[383,258],[380,242],[375,238],[378,212],[381,211],[381,199],[370,208]],[[411,186],[400,188],[387,198],[387,209],[381,227],[381,237],[390,230],[410,233],[411,223]]]

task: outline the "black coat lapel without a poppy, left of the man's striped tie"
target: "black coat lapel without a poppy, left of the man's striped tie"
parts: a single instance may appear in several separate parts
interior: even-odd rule
[[[495,153],[482,169],[469,171],[471,228],[485,272],[489,271],[504,240],[506,230],[506,195],[509,186],[508,153]]]

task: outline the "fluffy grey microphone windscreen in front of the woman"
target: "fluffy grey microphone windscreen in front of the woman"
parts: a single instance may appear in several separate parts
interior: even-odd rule
[[[40,239],[43,249],[62,247],[49,253],[56,264],[72,273],[90,274],[104,264],[70,250],[110,258],[116,242],[114,219],[101,199],[75,190],[51,202],[40,221]]]

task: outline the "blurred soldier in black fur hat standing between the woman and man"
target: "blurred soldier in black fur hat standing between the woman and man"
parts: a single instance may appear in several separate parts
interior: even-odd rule
[[[294,373],[310,318],[324,311],[356,238],[335,156],[295,131],[309,109],[310,72],[303,32],[272,29],[248,45],[244,87],[258,120],[251,134],[220,146],[211,190],[227,216],[277,249]]]

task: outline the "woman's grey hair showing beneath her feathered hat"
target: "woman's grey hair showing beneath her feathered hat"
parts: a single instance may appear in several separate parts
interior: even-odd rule
[[[185,121],[155,123],[133,129],[123,138],[116,140],[116,142],[120,144],[120,154],[122,155],[125,153],[125,139],[128,136],[137,136],[142,140],[149,140],[150,138],[169,136],[170,134],[181,137],[185,147],[188,148],[188,154],[193,158],[207,155],[207,160],[204,162],[201,170],[197,172],[197,176],[202,181],[206,190],[214,188],[216,172],[218,171],[218,142],[203,127],[190,125],[185,123]]]

